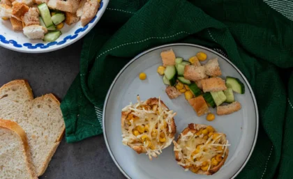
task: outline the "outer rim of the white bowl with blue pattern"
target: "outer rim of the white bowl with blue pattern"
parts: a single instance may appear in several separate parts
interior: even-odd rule
[[[84,33],[80,33],[80,36],[77,36],[76,38],[74,38],[73,40],[68,41],[67,43],[64,43],[62,45],[52,47],[52,48],[40,49],[40,50],[37,50],[37,51],[35,51],[33,49],[27,49],[27,48],[17,48],[17,47],[11,46],[10,44],[8,44],[8,45],[2,44],[1,42],[0,42],[0,47],[3,47],[5,49],[10,49],[10,50],[13,50],[15,52],[22,52],[22,53],[27,53],[27,54],[41,54],[41,53],[47,53],[47,52],[54,52],[54,51],[57,51],[59,49],[63,49],[65,47],[68,47],[69,45],[72,45],[73,43],[75,43],[78,40],[82,39],[85,35],[87,35],[87,33],[89,33],[89,31],[91,31],[91,29],[93,29],[94,26],[96,26],[96,24],[100,21],[100,18],[104,15],[105,10],[107,9],[107,6],[109,4],[109,1],[110,0],[103,0],[103,8],[98,10],[98,12],[96,13],[96,20],[93,21],[92,25],[89,26],[84,31]],[[98,13],[100,13],[100,16],[98,16]],[[87,25],[89,25],[89,24],[87,24]]]

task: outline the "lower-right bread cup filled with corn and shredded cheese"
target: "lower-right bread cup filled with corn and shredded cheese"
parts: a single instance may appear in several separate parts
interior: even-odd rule
[[[230,146],[226,135],[210,125],[189,124],[174,143],[175,159],[186,171],[212,175],[224,164]]]

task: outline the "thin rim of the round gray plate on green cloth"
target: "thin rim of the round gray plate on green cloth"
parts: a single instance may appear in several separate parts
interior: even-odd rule
[[[255,137],[253,139],[253,145],[251,146],[250,148],[250,152],[248,154],[248,156],[246,157],[246,160],[243,162],[243,164],[241,165],[241,167],[238,169],[238,171],[236,171],[236,173],[233,174],[233,176],[231,177],[232,178],[235,178],[236,176],[238,176],[238,174],[242,171],[242,169],[244,168],[244,166],[246,166],[248,160],[250,159],[251,155],[253,154],[253,150],[255,149],[255,144],[257,142],[257,136],[258,136],[258,130],[259,130],[259,114],[258,114],[258,108],[257,108],[257,101],[255,99],[255,93],[253,93],[253,89],[251,88],[248,80],[246,79],[245,75],[243,75],[243,73],[236,67],[236,65],[234,65],[232,63],[232,61],[230,61],[229,59],[227,59],[225,56],[223,56],[222,54],[216,52],[215,50],[213,49],[210,49],[208,47],[203,47],[202,45],[195,45],[195,44],[190,44],[190,43],[171,43],[171,44],[166,44],[166,45],[160,45],[158,47],[153,47],[151,49],[147,49],[145,50],[144,52],[138,54],[137,56],[135,56],[132,60],[130,60],[120,71],[119,73],[117,74],[117,76],[115,77],[115,79],[113,80],[108,92],[107,92],[107,95],[106,95],[106,98],[105,98],[105,102],[104,102],[104,107],[103,107],[103,137],[105,139],[105,143],[106,143],[106,146],[107,146],[107,150],[108,152],[110,153],[110,156],[112,157],[112,160],[113,162],[116,164],[116,166],[118,167],[118,169],[121,171],[121,173],[123,173],[123,175],[128,178],[128,179],[132,179],[130,178],[130,176],[128,176],[128,174],[123,171],[123,169],[121,168],[121,166],[118,164],[117,160],[115,159],[113,153],[112,153],[112,150],[109,146],[109,143],[107,141],[107,135],[106,135],[106,131],[105,131],[105,110],[106,110],[106,107],[107,107],[107,101],[109,100],[109,97],[110,97],[110,93],[112,91],[112,88],[114,86],[114,84],[116,83],[117,79],[120,77],[120,75],[123,73],[124,70],[126,70],[126,68],[128,68],[128,66],[133,63],[134,61],[136,61],[137,59],[139,59],[141,56],[143,56],[144,54],[147,54],[153,50],[156,50],[156,49],[160,49],[160,48],[164,48],[164,47],[172,47],[172,46],[190,46],[190,47],[198,47],[198,48],[202,48],[202,49],[205,49],[209,52],[212,52],[218,56],[220,56],[221,58],[223,58],[225,61],[227,61],[227,63],[230,63],[230,65],[232,65],[232,67],[235,68],[235,70],[237,72],[239,72],[239,75],[241,75],[241,77],[244,79],[244,81],[246,81],[246,84],[249,88],[249,91],[250,91],[250,94],[252,95],[253,97],[253,103],[255,104],[255,114],[256,114],[256,126],[255,126]]]

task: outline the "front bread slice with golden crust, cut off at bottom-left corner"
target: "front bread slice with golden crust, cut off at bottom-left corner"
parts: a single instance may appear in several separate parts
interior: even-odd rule
[[[0,141],[0,178],[37,179],[22,127],[0,119]]]

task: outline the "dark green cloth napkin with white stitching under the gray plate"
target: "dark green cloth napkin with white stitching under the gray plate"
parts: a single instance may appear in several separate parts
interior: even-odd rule
[[[188,42],[225,52],[255,93],[259,135],[253,155],[237,178],[292,178],[292,4],[111,0],[98,25],[84,38],[80,74],[61,103],[66,141],[103,132],[105,95],[130,59],[151,47]]]

